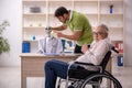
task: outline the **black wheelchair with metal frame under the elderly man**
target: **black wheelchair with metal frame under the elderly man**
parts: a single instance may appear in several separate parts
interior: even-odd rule
[[[74,62],[73,64],[86,65],[94,68],[94,70],[87,70],[85,68],[72,69],[70,64],[68,66],[68,76],[66,79],[59,78],[57,88],[62,88],[62,84],[65,81],[65,88],[122,88],[120,81],[113,77],[109,72],[106,70],[107,64],[111,58],[111,53],[114,51],[119,53],[114,47],[112,47],[103,57],[99,66],[95,66],[89,63]],[[95,68],[97,70],[95,70]],[[109,86],[108,87],[108,82]],[[70,85],[69,85],[70,84]]]

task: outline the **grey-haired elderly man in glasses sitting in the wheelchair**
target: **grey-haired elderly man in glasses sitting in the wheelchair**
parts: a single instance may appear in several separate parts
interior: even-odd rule
[[[91,63],[94,65],[101,63],[111,47],[111,42],[108,38],[108,28],[105,24],[97,26],[94,31],[94,40],[90,47],[87,44],[81,47],[84,55],[78,57],[77,62]],[[55,88],[57,77],[66,79],[68,65],[68,63],[57,59],[48,61],[45,64],[45,88]],[[78,66],[72,65],[72,68],[78,68]]]

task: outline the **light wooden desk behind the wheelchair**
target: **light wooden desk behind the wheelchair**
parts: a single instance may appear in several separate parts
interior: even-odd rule
[[[65,54],[62,56],[44,56],[43,54],[21,54],[21,88],[26,88],[26,77],[44,77],[45,62],[56,58],[69,62],[77,58],[80,54]],[[111,62],[107,66],[107,70],[111,72]],[[108,84],[110,86],[110,84]]]

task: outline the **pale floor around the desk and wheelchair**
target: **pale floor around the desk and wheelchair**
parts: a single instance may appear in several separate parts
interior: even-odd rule
[[[119,67],[113,61],[112,73],[123,88],[131,88],[132,67]],[[21,67],[0,67],[0,88],[21,88]],[[44,88],[44,78],[28,78],[28,88]]]

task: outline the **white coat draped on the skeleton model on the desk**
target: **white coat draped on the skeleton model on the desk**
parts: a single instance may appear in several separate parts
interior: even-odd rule
[[[38,41],[38,51],[41,54],[62,54],[63,45],[59,37],[46,36]]]

